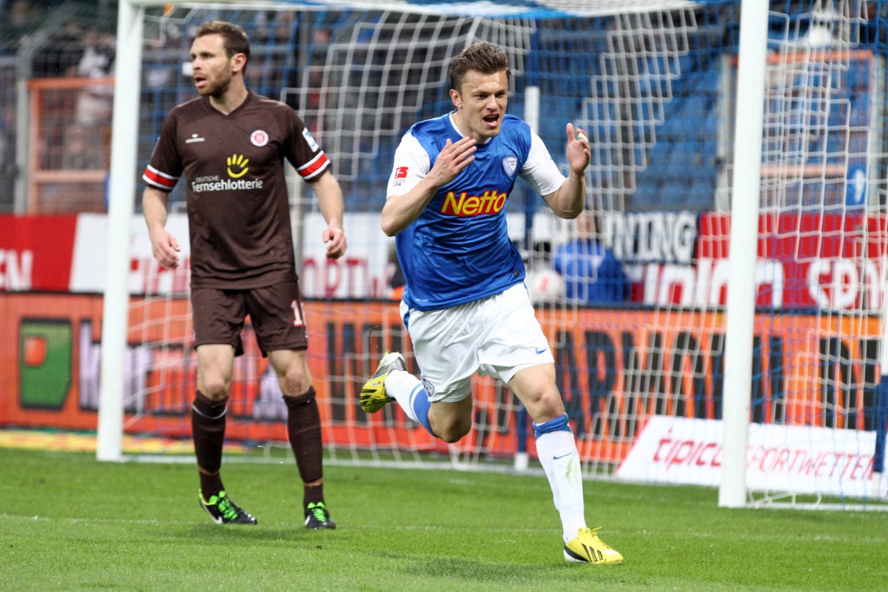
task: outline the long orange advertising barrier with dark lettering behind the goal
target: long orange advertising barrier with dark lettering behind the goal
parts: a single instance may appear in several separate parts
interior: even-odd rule
[[[96,428],[102,300],[94,295],[0,293],[0,425]],[[325,438],[337,446],[446,451],[395,405],[368,415],[357,393],[381,352],[409,340],[391,301],[305,303],[309,364]],[[724,318],[717,312],[540,310],[559,388],[584,458],[621,460],[651,415],[715,419],[724,389]],[[171,321],[164,321],[172,319]],[[250,335],[237,358],[227,435],[285,440],[276,383]],[[878,320],[757,316],[752,419],[872,429]],[[187,436],[196,363],[187,300],[131,301],[126,431]],[[269,388],[269,384],[272,385]],[[145,392],[139,401],[134,392]],[[463,450],[511,455],[516,406],[503,385],[478,378],[476,429]],[[521,429],[528,429],[523,426]],[[533,438],[528,438],[533,453]]]

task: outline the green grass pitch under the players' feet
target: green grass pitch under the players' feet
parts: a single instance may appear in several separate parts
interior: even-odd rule
[[[876,590],[888,512],[721,509],[718,492],[587,482],[626,557],[566,564],[543,477],[328,467],[336,531],[302,526],[297,470],[229,463],[256,527],[198,508],[191,465],[0,449],[0,589]]]

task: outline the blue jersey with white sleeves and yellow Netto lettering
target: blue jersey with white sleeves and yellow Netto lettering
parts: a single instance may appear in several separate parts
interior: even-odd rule
[[[415,139],[428,156],[428,168],[422,176],[431,170],[448,139],[455,143],[463,136],[450,116],[440,116],[413,125],[405,140],[408,137]],[[553,182],[552,170],[564,179],[544,147],[548,160],[543,164],[545,174],[541,177],[538,171],[525,170],[534,141],[542,147],[542,141],[526,123],[518,117],[504,116],[500,133],[477,144],[475,160],[441,187],[424,212],[400,232],[395,244],[407,282],[403,300],[408,307],[452,308],[524,281],[524,264],[506,225],[506,204],[515,180],[519,174],[531,174],[535,177],[531,185],[548,190]],[[402,141],[401,148],[404,146]],[[416,144],[411,146],[416,149]],[[535,157],[539,157],[539,148]],[[400,166],[403,163],[396,156],[390,188],[410,174],[408,166]],[[534,182],[540,179],[546,182]]]

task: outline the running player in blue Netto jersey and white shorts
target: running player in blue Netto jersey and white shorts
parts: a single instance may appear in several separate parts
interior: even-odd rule
[[[400,353],[387,354],[361,388],[361,407],[377,412],[397,401],[433,436],[454,443],[472,428],[472,375],[503,380],[534,421],[564,558],[620,564],[622,555],[586,526],[580,459],[555,384],[555,360],[505,217],[518,177],[559,217],[583,212],[588,140],[567,124],[565,178],[529,126],[505,114],[511,69],[496,45],[472,44],[449,75],[453,111],[404,135],[382,212],[383,231],[397,236],[407,280],[400,315],[422,380],[406,372]]]

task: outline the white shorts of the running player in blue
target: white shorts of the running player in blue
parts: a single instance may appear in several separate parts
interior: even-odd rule
[[[508,383],[519,370],[555,363],[524,284],[443,310],[410,309],[401,301],[400,317],[432,402],[472,395],[475,372]]]

